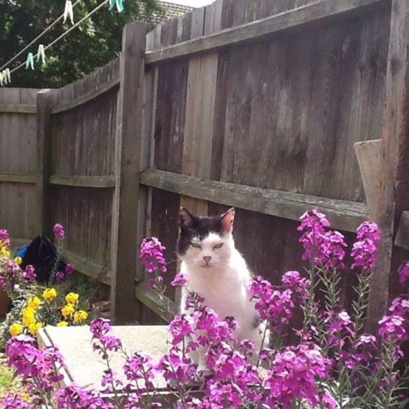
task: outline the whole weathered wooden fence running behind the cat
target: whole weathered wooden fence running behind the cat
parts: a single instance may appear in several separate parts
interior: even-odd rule
[[[408,18],[406,0],[217,0],[146,42],[143,24],[126,26],[118,60],[39,93],[36,107],[31,90],[1,90],[0,225],[27,239],[63,223],[66,258],[111,285],[116,322],[161,322],[177,294],[147,288],[135,260],[157,236],[171,281],[180,206],[235,206],[238,248],[276,282],[303,267],[304,211],[321,209],[353,241],[368,218],[354,143],[381,140],[373,326],[409,249]]]

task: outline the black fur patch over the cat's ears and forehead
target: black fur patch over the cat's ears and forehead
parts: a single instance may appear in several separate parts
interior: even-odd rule
[[[183,256],[194,237],[203,240],[210,233],[216,233],[220,236],[226,234],[223,219],[227,213],[218,216],[196,217],[185,208],[181,208],[179,212],[180,235],[177,239],[177,254]]]

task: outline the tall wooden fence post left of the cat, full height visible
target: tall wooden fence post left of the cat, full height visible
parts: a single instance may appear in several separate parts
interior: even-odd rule
[[[145,73],[144,23],[124,27],[115,143],[116,187],[111,238],[111,318],[135,322],[139,170]]]

